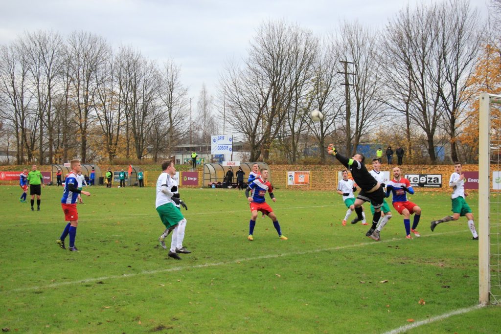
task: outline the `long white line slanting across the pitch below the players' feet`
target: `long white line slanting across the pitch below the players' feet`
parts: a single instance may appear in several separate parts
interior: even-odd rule
[[[466,230],[457,230],[457,231],[444,232],[444,233],[434,233],[433,236],[444,235],[444,234],[453,234],[453,233],[463,233],[464,231],[466,231]],[[432,236],[432,235],[424,235],[421,238],[429,237],[429,236]],[[145,270],[145,271],[135,272],[135,273],[130,273],[130,274],[91,277],[91,278],[74,280],[74,281],[58,282],[58,283],[29,286],[29,287],[21,287],[21,288],[17,288],[17,289],[3,290],[1,292],[22,292],[22,291],[30,291],[30,290],[40,290],[40,289],[47,289],[47,288],[65,286],[65,285],[73,285],[73,284],[78,284],[78,283],[91,283],[91,282],[97,282],[97,281],[102,281],[102,280],[107,280],[107,279],[117,279],[117,278],[134,277],[134,276],[138,276],[138,275],[152,275],[152,274],[157,274],[157,273],[180,271],[183,269],[216,267],[216,266],[225,265],[225,264],[248,262],[248,261],[262,260],[262,259],[268,259],[268,258],[305,255],[305,254],[319,253],[319,252],[324,252],[324,251],[335,251],[335,250],[341,250],[341,249],[347,249],[347,248],[370,246],[370,245],[375,245],[375,244],[379,244],[379,243],[392,242],[392,241],[396,241],[396,240],[402,240],[402,238],[391,238],[391,239],[387,239],[387,240],[383,240],[383,241],[379,241],[379,242],[377,242],[377,241],[362,242],[362,243],[357,243],[357,244],[353,244],[353,245],[322,248],[322,249],[312,249],[312,250],[307,250],[307,251],[302,251],[302,252],[292,252],[292,253],[283,253],[283,254],[268,254],[268,255],[262,255],[262,256],[257,256],[257,257],[235,259],[235,260],[226,261],[226,262],[204,263],[204,264],[196,264],[196,265],[190,265],[190,266],[176,266],[176,267],[171,267],[171,268],[166,268],[166,269]],[[409,242],[412,242],[412,241],[409,240]]]

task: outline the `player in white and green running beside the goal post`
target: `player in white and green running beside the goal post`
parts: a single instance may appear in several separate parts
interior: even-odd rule
[[[449,187],[452,187],[452,216],[445,216],[440,220],[433,220],[431,222],[431,230],[433,231],[435,227],[440,223],[445,223],[451,220],[457,220],[460,216],[466,216],[468,219],[468,227],[473,235],[473,240],[478,240],[478,234],[476,233],[475,223],[473,221],[473,213],[471,209],[464,200],[464,197],[468,196],[468,193],[464,192],[464,174],[461,174],[462,165],[460,162],[454,162],[454,173],[450,175]]]

